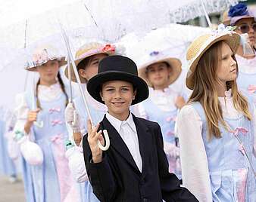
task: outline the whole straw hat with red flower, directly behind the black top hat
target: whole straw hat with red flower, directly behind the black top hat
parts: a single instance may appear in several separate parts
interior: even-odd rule
[[[108,55],[113,55],[115,53],[115,46],[112,44],[100,44],[97,42],[92,42],[89,44],[84,44],[82,47],[80,47],[76,51],[76,57],[75,57],[75,64],[76,68],[79,65],[82,60],[86,59],[87,57],[91,57],[96,54],[108,54]],[[73,67],[71,66],[71,80],[73,82],[76,81],[76,76],[73,72]],[[65,75],[68,78],[68,68],[66,67],[65,69]],[[83,78],[80,76],[80,81],[81,83],[87,83],[86,78]]]

